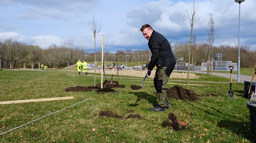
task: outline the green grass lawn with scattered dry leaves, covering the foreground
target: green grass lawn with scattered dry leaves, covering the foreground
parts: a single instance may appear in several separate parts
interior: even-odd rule
[[[197,80],[229,81],[216,76]],[[96,82],[100,81],[100,77],[96,77]],[[152,78],[146,81],[152,81]],[[113,88],[116,92],[65,92],[67,87],[92,86],[93,82],[94,76],[79,75],[75,71],[0,71],[0,101],[74,96],[71,100],[0,105],[0,133],[92,97],[70,109],[3,134],[0,142],[252,142],[246,107],[249,100],[243,97],[243,84],[232,84],[234,98],[229,99],[226,97],[229,83],[193,82],[191,84],[210,86],[189,86],[202,95],[199,100],[169,99],[171,107],[166,112],[148,110],[157,99],[153,83],[145,82],[146,87],[131,90],[131,84],[140,85],[141,81],[130,78],[119,78],[120,84],[126,87]],[[186,88],[186,85],[178,86]],[[218,96],[207,96],[211,94]],[[102,117],[99,113],[104,110],[124,117],[138,114],[142,119]],[[129,110],[134,112],[129,113]],[[172,127],[163,127],[170,112],[188,128],[176,131]]]

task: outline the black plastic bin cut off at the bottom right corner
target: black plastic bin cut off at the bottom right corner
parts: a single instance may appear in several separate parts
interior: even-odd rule
[[[250,113],[252,138],[256,142],[256,101],[248,102],[247,107]]]

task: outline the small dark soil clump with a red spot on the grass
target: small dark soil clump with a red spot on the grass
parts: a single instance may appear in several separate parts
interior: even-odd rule
[[[188,128],[183,121],[178,121],[177,117],[171,112],[168,114],[168,119],[163,121],[163,127],[172,127],[175,131]]]

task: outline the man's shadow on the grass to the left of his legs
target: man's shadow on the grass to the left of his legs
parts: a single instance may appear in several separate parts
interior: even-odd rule
[[[135,96],[137,96],[137,100],[134,104],[128,104],[128,106],[137,106],[138,105],[138,101],[140,101],[141,99],[146,99],[148,100],[149,103],[151,103],[152,105],[154,103],[156,103],[157,97],[148,94],[147,92],[128,92],[129,94],[134,94]]]

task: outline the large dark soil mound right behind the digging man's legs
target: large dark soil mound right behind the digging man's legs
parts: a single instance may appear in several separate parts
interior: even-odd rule
[[[177,100],[197,101],[198,95],[194,93],[194,90],[188,90],[180,86],[174,86],[167,89],[168,98],[175,98]]]

